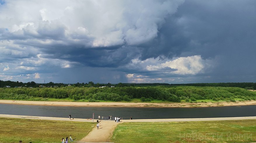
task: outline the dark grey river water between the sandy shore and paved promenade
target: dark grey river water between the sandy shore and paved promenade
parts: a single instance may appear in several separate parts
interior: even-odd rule
[[[0,114],[43,117],[92,118],[123,117],[123,119],[169,119],[256,116],[256,105],[200,108],[154,108],[154,107],[70,107],[0,104]]]

